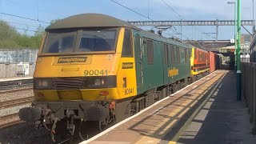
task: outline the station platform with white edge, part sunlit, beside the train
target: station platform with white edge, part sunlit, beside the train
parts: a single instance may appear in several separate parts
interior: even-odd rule
[[[217,70],[81,143],[250,144],[256,142],[250,130],[234,72]]]

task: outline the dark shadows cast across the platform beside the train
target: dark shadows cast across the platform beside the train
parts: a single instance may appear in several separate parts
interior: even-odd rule
[[[228,66],[222,67],[222,69],[226,68],[228,68]],[[206,86],[206,82],[203,82],[200,86]],[[216,90],[214,90],[215,86],[217,86]],[[182,97],[174,100],[174,102],[177,102],[181,98],[189,99],[191,91],[193,90],[183,94]],[[208,96],[210,96],[210,98]],[[207,97],[209,99],[206,99]],[[207,101],[206,104],[201,110],[199,110],[192,122],[186,126],[187,120],[191,118],[194,111],[197,110],[198,106],[200,106],[205,100]],[[195,101],[198,102],[191,105]],[[174,105],[174,102],[170,102],[161,109],[166,109],[166,107]],[[161,143],[168,143],[177,137],[178,143],[189,144],[253,144],[256,142],[256,138],[250,134],[251,126],[246,106],[243,102],[236,101],[234,71],[229,71],[224,77],[222,77],[221,82],[215,82],[214,86],[211,86],[210,90],[202,90],[201,94],[198,94],[198,98],[192,99],[186,106],[175,106],[182,108],[182,110],[178,111],[178,114],[171,116],[160,113],[153,115],[150,114],[146,118],[136,122],[133,126],[130,126],[129,130],[134,130],[146,137],[158,139],[162,138],[162,134],[164,134],[165,131],[170,130],[162,138]],[[158,115],[158,119],[152,119],[154,115]],[[161,118],[168,118],[169,120],[164,125],[158,126],[154,130],[148,130],[146,128],[146,126],[154,126],[147,124],[147,121],[156,121],[159,120],[159,118],[160,120]],[[142,125],[145,125],[145,129],[142,129]],[[169,130],[166,130],[166,127],[170,127]],[[180,132],[181,130],[182,133]]]

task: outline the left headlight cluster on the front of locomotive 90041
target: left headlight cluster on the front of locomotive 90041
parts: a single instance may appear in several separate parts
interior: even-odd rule
[[[53,80],[51,78],[34,78],[34,89],[43,90],[43,89],[52,89]]]

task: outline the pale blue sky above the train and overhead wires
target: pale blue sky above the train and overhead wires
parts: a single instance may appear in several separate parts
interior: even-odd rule
[[[228,5],[232,0],[114,0],[122,5],[143,14],[153,20],[233,20],[234,5]],[[166,6],[166,2],[176,13]],[[148,21],[133,11],[119,6],[111,0],[0,0],[0,19],[9,22],[17,29],[31,30],[28,34],[33,34],[33,30],[41,25],[49,26],[53,19],[62,19],[74,14],[98,13],[107,14],[124,21]],[[253,17],[253,0],[242,0],[242,19],[248,20]],[[256,10],[255,10],[256,11]],[[21,17],[38,19],[42,22],[15,18],[6,14],[14,14]],[[255,15],[255,14],[254,14]],[[251,26],[246,26],[252,31]],[[142,27],[144,30],[154,29],[154,27]],[[163,35],[166,37],[178,37],[180,26],[174,26],[172,30],[166,30]],[[215,33],[215,26],[183,26],[182,39],[205,40],[213,39],[203,33]],[[154,29],[156,30],[156,29]],[[25,30],[18,30],[24,33]],[[242,29],[242,33],[246,30]],[[219,40],[234,38],[234,26],[219,26]]]

